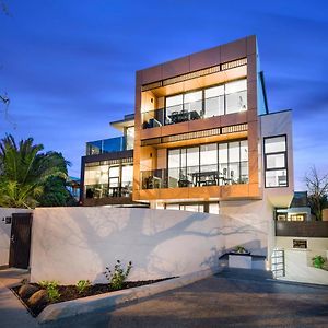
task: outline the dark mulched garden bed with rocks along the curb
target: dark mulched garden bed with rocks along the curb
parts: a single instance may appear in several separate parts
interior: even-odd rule
[[[155,282],[160,282],[160,281],[173,279],[173,278],[175,278],[175,277],[157,279],[157,280],[145,280],[145,281],[126,281],[126,282],[124,282],[121,290],[142,286],[142,285],[147,285],[147,284],[152,284]],[[37,283],[32,283],[31,285],[37,288],[37,290],[45,290],[45,288],[42,288]],[[19,295],[19,291],[20,291],[21,286],[22,286],[22,284],[14,286],[14,288],[12,288],[12,291],[22,301],[22,303],[26,306],[26,308],[30,311],[30,313],[34,317],[36,317],[45,307],[47,307],[50,304],[72,301],[72,300],[87,297],[87,296],[95,296],[95,295],[117,291],[117,290],[110,288],[110,285],[108,283],[97,283],[97,284],[90,285],[82,293],[79,293],[75,285],[58,285],[58,291],[59,291],[60,296],[56,302],[47,301],[46,303],[44,303],[42,305],[31,306],[27,302],[28,297],[21,297]]]

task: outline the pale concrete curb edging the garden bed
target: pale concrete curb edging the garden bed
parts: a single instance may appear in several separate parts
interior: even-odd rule
[[[51,304],[37,316],[37,321],[46,324],[81,314],[109,312],[118,305],[178,289],[211,277],[220,271],[220,269],[207,269],[149,285]]]

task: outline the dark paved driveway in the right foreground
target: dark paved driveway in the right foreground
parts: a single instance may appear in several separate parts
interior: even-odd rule
[[[216,276],[112,313],[107,327],[328,327],[328,288]]]

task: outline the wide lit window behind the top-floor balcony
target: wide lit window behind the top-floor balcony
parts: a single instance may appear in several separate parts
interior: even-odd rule
[[[247,80],[166,97],[166,124],[247,110]]]

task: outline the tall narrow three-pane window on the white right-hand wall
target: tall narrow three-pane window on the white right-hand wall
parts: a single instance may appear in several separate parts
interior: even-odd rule
[[[265,138],[266,188],[288,186],[286,136]]]

